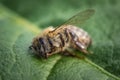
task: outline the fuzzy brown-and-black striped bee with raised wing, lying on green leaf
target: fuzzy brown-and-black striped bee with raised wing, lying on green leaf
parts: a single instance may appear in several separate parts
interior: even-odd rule
[[[46,28],[33,39],[30,49],[43,58],[48,58],[53,54],[64,52],[68,49],[77,49],[88,54],[87,48],[92,42],[91,37],[86,31],[76,25],[80,26],[94,12],[93,9],[88,9],[76,14],[60,27]]]

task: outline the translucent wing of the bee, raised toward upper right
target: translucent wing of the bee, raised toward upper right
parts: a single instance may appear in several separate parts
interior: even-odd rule
[[[63,25],[80,26],[86,20],[88,20],[94,13],[95,11],[93,9],[88,9],[83,12],[79,12],[78,14],[71,17],[68,21],[66,21]],[[62,29],[62,26],[57,27],[55,30],[58,30],[58,29]]]

